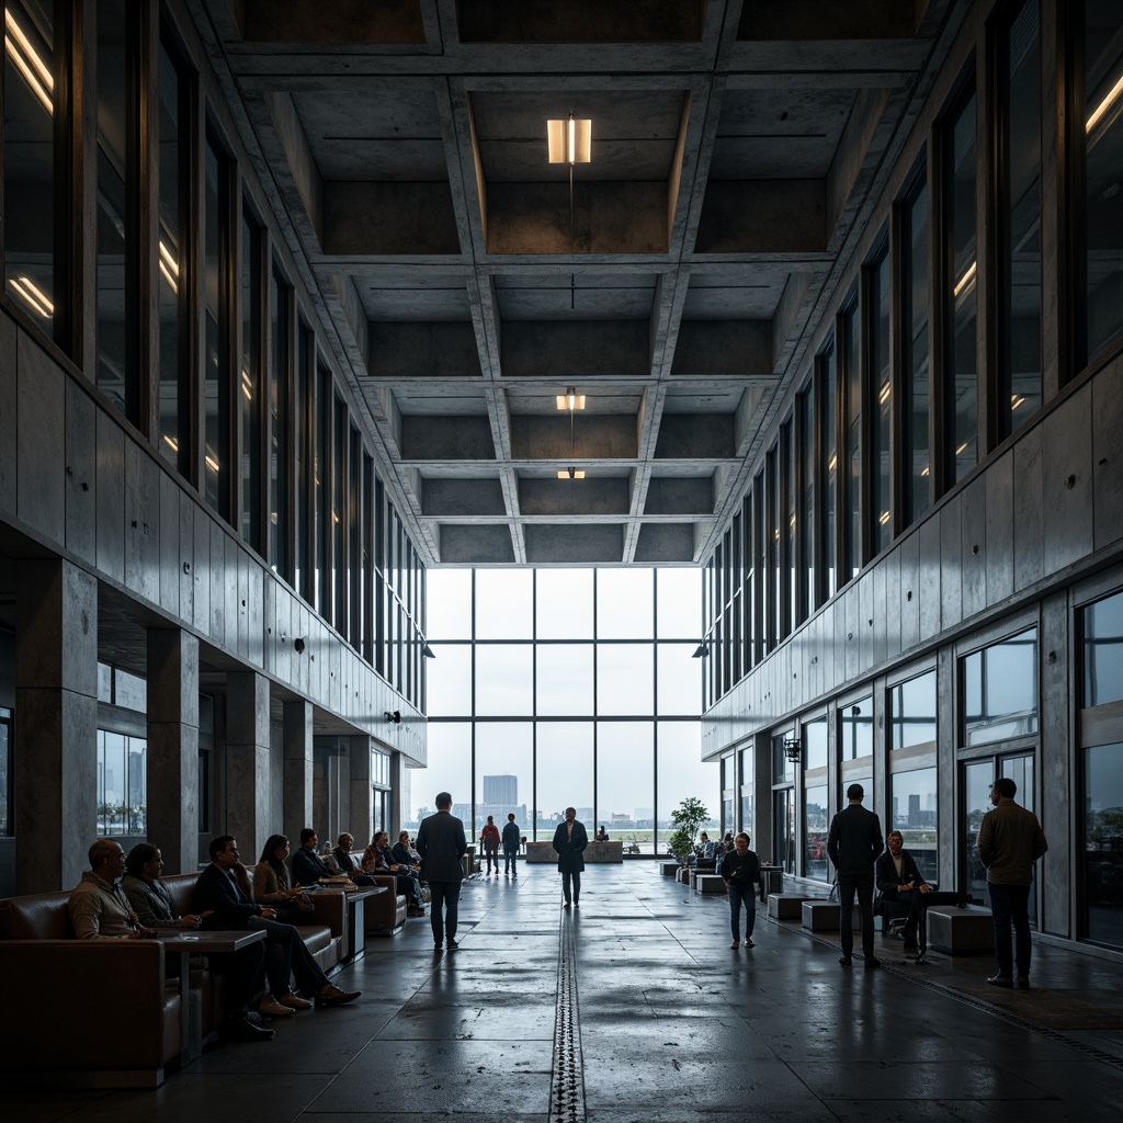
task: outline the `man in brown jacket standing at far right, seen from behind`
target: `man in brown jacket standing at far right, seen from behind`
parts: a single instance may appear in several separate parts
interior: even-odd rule
[[[990,787],[994,807],[983,816],[976,847],[979,861],[986,866],[990,892],[990,916],[994,921],[994,951],[998,971],[987,983],[1013,986],[1013,967],[1017,966],[1017,985],[1030,985],[1030,888],[1033,885],[1033,862],[1048,849],[1038,816],[1014,802],[1017,785],[1008,776],[999,776]],[[1014,926],[1011,949],[1011,922]]]

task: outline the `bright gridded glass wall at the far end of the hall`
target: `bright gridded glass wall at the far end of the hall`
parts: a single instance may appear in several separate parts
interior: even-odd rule
[[[720,816],[701,760],[697,569],[430,569],[429,765],[403,827],[448,791],[469,833],[514,813],[553,838],[588,828],[660,852],[688,797]]]

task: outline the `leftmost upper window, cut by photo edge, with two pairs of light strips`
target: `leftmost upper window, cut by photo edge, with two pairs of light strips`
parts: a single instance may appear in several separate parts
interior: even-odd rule
[[[54,331],[53,4],[4,4],[4,286],[47,335]]]

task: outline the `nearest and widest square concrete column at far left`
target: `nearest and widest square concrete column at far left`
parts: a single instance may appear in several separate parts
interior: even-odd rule
[[[98,582],[16,563],[16,892],[73,888],[98,821]]]

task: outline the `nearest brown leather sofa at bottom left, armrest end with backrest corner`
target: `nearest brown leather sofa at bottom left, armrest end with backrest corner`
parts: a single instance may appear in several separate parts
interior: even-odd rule
[[[0,1072],[55,1087],[155,1088],[180,1054],[180,994],[155,940],[79,940],[70,893],[0,901]],[[22,1079],[21,1079],[22,1078]]]

